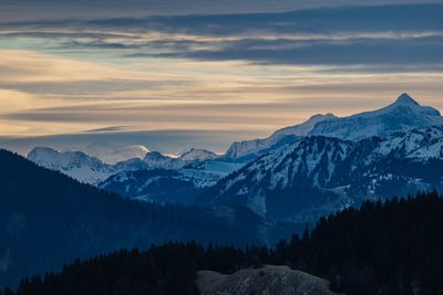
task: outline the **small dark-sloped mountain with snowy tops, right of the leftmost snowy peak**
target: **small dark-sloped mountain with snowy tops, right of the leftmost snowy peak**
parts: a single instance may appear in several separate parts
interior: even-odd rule
[[[195,148],[177,158],[151,151],[143,161],[148,169],[113,175],[99,187],[142,201],[188,203],[197,190],[216,183],[241,166]]]

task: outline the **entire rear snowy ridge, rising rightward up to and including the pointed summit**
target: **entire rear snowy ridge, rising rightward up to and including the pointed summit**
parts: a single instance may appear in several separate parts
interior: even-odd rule
[[[387,137],[395,131],[442,124],[443,117],[437,109],[421,106],[403,93],[394,103],[381,109],[349,117],[336,117],[332,114],[316,115],[301,125],[277,130],[268,138],[234,143],[225,157],[250,160],[303,136],[327,136],[358,141],[372,136]]]

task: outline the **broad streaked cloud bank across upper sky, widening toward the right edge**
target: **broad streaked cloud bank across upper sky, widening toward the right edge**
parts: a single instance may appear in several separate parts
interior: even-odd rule
[[[48,51],[83,54],[103,51],[110,60],[128,56],[343,67],[368,65],[368,71],[372,72],[378,71],[377,66],[384,72],[387,65],[398,71],[440,66],[440,71],[442,13],[443,4],[431,3],[31,21],[3,23],[2,38],[47,39]],[[39,31],[40,34],[35,34]],[[37,48],[44,46],[38,43]],[[105,69],[102,72],[107,73]]]

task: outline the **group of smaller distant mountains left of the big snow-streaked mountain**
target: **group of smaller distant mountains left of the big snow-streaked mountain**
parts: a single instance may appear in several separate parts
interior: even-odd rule
[[[183,204],[189,204],[199,188],[212,186],[241,167],[195,148],[178,158],[150,151],[143,160],[134,158],[110,165],[82,151],[35,147],[28,159],[130,199]]]

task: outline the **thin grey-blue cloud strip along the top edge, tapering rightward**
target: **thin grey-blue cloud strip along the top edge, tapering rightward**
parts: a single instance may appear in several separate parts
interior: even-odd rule
[[[371,0],[370,4],[420,3],[420,0]],[[433,0],[433,2],[441,2]],[[146,17],[176,14],[220,14],[278,12],[338,6],[368,6],[354,0],[2,0],[0,20],[93,19],[111,17]]]

